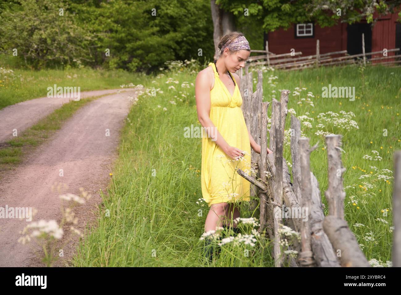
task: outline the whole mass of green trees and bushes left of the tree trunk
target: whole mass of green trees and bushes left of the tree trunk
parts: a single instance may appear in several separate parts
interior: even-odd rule
[[[34,67],[152,70],[214,53],[210,4],[203,0],[14,0],[0,9],[2,50],[18,49]]]

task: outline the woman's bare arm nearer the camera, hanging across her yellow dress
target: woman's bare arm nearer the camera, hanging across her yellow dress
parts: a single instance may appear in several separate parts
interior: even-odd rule
[[[196,76],[195,81],[195,98],[196,98],[196,111],[198,113],[198,120],[201,125],[207,131],[209,137],[216,142],[216,144],[227,154],[229,157],[234,159],[234,157],[243,156],[242,151],[234,146],[230,146],[227,141],[221,136],[219,130],[212,120],[209,118],[210,115],[210,87],[211,81],[209,75],[206,71],[200,71]],[[211,130],[214,132],[211,134]]]

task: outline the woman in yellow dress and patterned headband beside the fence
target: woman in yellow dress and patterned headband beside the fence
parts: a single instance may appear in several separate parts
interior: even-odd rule
[[[250,200],[250,183],[236,169],[250,170],[251,147],[260,154],[260,145],[245,124],[240,78],[234,73],[245,67],[249,43],[242,33],[231,32],[221,38],[218,48],[217,61],[200,71],[195,82],[198,120],[208,133],[202,138],[201,167],[202,194],[210,207],[205,232],[230,227],[240,216],[233,205]],[[232,227],[236,233],[235,224]]]

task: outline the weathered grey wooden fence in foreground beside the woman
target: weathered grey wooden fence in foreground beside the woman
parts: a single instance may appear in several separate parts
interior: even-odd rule
[[[310,171],[310,156],[317,144],[310,146],[309,138],[301,138],[300,120],[291,115],[290,149],[292,177],[283,157],[284,126],[288,113],[289,90],[282,90],[280,101],[262,102],[262,72],[258,71],[257,90],[253,92],[252,72],[242,75],[241,95],[245,122],[255,141],[261,145],[261,154],[252,150],[252,167],[257,177],[238,170],[238,174],[251,182],[251,195],[259,198],[260,228],[266,230],[273,241],[275,266],[284,261],[292,267],[370,267],[358,242],[344,219],[343,173],[341,161],[341,135],[327,135],[328,188],[324,195],[328,202],[328,216],[324,214],[319,183]],[[267,128],[267,110],[271,105],[271,126]],[[269,149],[267,154],[267,132]],[[266,173],[267,172],[267,173]],[[283,207],[284,206],[284,207]],[[308,208],[307,218],[282,218],[282,209],[302,212]],[[301,210],[300,210],[301,209]],[[306,212],[306,211],[304,211]],[[394,156],[393,190],[393,266],[401,267],[401,151]],[[306,220],[303,220],[306,219]],[[286,225],[301,235],[301,241],[290,245],[289,250],[298,251],[298,258],[281,252],[280,228]]]

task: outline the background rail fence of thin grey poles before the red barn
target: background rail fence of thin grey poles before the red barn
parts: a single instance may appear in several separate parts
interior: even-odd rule
[[[365,36],[362,34],[362,53],[349,55],[346,50],[334,51],[320,54],[320,43],[316,40],[316,54],[302,56],[302,52],[292,52],[284,54],[274,54],[268,50],[269,45],[266,41],[266,50],[251,50],[251,52],[265,53],[249,57],[245,65],[245,71],[248,67],[255,65],[266,65],[274,69],[294,70],[305,69],[310,67],[328,66],[328,65],[345,65],[351,63],[371,64],[393,64],[401,63],[401,55],[383,56],[383,51],[365,52]],[[399,48],[387,49],[386,53],[395,54],[400,51]],[[379,57],[376,57],[379,56]],[[367,58],[371,57],[371,58]],[[262,61],[260,61],[262,60]]]

